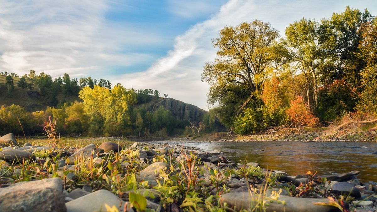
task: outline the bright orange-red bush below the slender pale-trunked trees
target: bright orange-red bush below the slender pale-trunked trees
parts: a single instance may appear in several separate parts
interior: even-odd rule
[[[299,95],[291,101],[290,107],[285,112],[290,121],[298,122],[300,125],[314,126],[318,123],[318,118],[314,117],[307,103]]]

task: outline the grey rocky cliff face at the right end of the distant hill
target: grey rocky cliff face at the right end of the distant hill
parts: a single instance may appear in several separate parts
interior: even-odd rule
[[[207,112],[195,105],[187,104],[173,98],[164,98],[155,104],[149,104],[147,109],[157,111],[160,106],[164,106],[164,108],[169,110],[173,117],[178,120],[183,121],[187,119],[191,122],[195,121],[196,123],[198,123],[200,118]]]

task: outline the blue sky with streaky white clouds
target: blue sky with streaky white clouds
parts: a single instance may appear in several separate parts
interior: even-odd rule
[[[0,72],[104,78],[207,110],[201,73],[220,29],[258,19],[284,35],[347,5],[377,15],[375,0],[1,0]]]

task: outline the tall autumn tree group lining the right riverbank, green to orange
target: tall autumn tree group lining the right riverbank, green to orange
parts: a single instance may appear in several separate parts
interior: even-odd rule
[[[302,18],[285,36],[255,20],[225,26],[204,65],[208,103],[234,132],[327,125],[344,114],[377,115],[377,19],[346,7],[329,19]]]

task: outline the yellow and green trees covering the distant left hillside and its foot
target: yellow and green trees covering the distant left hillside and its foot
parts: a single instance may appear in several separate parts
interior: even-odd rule
[[[22,79],[28,83],[27,87],[22,87]],[[41,95],[55,97],[55,100],[58,92],[77,95],[83,102],[58,102],[55,107],[36,112],[28,112],[18,105],[2,106],[0,134],[43,134],[43,126],[49,118],[56,121],[60,135],[69,136],[150,137],[195,133],[188,127],[190,120],[177,120],[162,106],[157,111],[147,111],[144,103],[161,100],[157,90],[126,89],[120,83],[111,87],[110,81],[97,81],[91,77],[80,78],[79,81],[71,80],[68,74],[52,81],[49,75],[43,72],[36,75],[34,70],[31,70],[29,75],[22,76],[18,86],[31,90],[35,86]],[[164,94],[164,98],[167,97],[168,95]],[[206,115],[201,123],[204,123],[202,132],[210,132],[216,128],[213,115]]]

